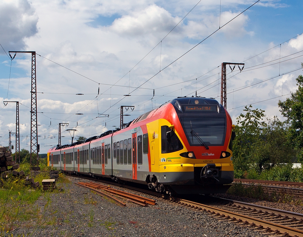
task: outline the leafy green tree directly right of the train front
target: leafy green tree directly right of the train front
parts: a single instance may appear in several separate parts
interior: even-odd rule
[[[276,164],[290,163],[295,154],[287,139],[288,124],[251,108],[245,107],[246,114],[240,114],[235,127],[233,163],[237,178],[246,178],[247,173],[258,176]]]

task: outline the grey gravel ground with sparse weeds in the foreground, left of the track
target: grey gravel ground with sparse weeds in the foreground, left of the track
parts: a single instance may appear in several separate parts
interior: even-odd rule
[[[9,235],[32,236],[264,236],[255,229],[219,221],[206,212],[155,198],[157,204],[141,207],[126,202],[117,206],[108,199],[78,187],[85,179],[69,177],[70,183],[57,184],[62,192],[50,193],[51,202],[43,215],[47,195],[37,200],[47,221],[35,229],[37,220],[22,223]],[[23,228],[22,228],[23,227]],[[35,229],[35,230],[34,230]]]

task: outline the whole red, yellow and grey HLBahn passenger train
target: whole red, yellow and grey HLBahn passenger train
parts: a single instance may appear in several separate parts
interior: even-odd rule
[[[122,130],[48,150],[48,165],[166,193],[225,193],[234,179],[231,117],[215,99],[181,97]]]

